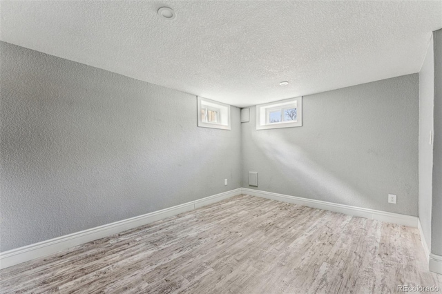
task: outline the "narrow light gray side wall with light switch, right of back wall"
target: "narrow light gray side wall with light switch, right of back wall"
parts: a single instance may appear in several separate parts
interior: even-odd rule
[[[430,132],[433,131],[434,106],[434,54],[433,39],[419,72],[419,219],[427,245],[431,245],[431,202],[433,145]]]

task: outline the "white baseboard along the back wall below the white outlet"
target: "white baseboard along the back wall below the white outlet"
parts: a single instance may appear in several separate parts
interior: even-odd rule
[[[289,202],[299,204],[302,206],[309,206],[312,208],[319,208],[324,210],[334,211],[336,213],[343,213],[345,215],[354,215],[356,217],[365,217],[367,219],[376,219],[382,222],[390,222],[393,224],[401,224],[404,226],[412,226],[417,228],[418,217],[411,215],[401,215],[398,213],[387,213],[386,211],[374,210],[368,208],[361,208],[356,206],[349,206],[344,204],[336,204],[332,202],[325,202],[314,199],[307,199],[302,197],[272,193],[262,190],[253,190],[250,188],[242,188],[242,194],[278,200],[282,202]]]

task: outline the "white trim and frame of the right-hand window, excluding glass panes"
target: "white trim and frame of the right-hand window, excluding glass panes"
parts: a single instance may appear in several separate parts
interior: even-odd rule
[[[296,108],[296,121],[285,121],[284,111],[291,108]],[[281,112],[281,121],[271,123],[270,112],[275,112],[277,110],[280,110]],[[274,101],[267,104],[258,104],[256,106],[256,130],[294,128],[297,126],[302,126],[302,96]]]

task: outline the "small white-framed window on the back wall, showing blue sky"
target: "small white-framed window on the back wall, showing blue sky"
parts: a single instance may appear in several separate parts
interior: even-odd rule
[[[302,126],[302,97],[256,106],[256,130]]]

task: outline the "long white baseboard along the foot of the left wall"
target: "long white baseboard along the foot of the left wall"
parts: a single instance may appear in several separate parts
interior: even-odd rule
[[[187,202],[170,208],[154,211],[153,213],[147,213],[146,215],[140,215],[137,217],[131,217],[130,219],[123,219],[119,222],[113,222],[111,224],[105,224],[103,226],[97,226],[88,230],[80,231],[77,233],[64,235],[54,239],[49,239],[43,242],[30,244],[20,248],[15,248],[10,251],[0,253],[0,269],[14,266],[15,264],[21,264],[22,262],[28,262],[29,260],[44,257],[63,251],[65,249],[94,241],[103,237],[108,237],[122,231],[129,230],[131,228],[137,228],[138,226],[144,226],[151,222],[156,222],[166,217],[171,217],[179,213],[184,213],[195,208],[219,202],[223,199],[233,197],[241,194],[241,188],[230,190],[217,195],[205,197],[195,201]]]

